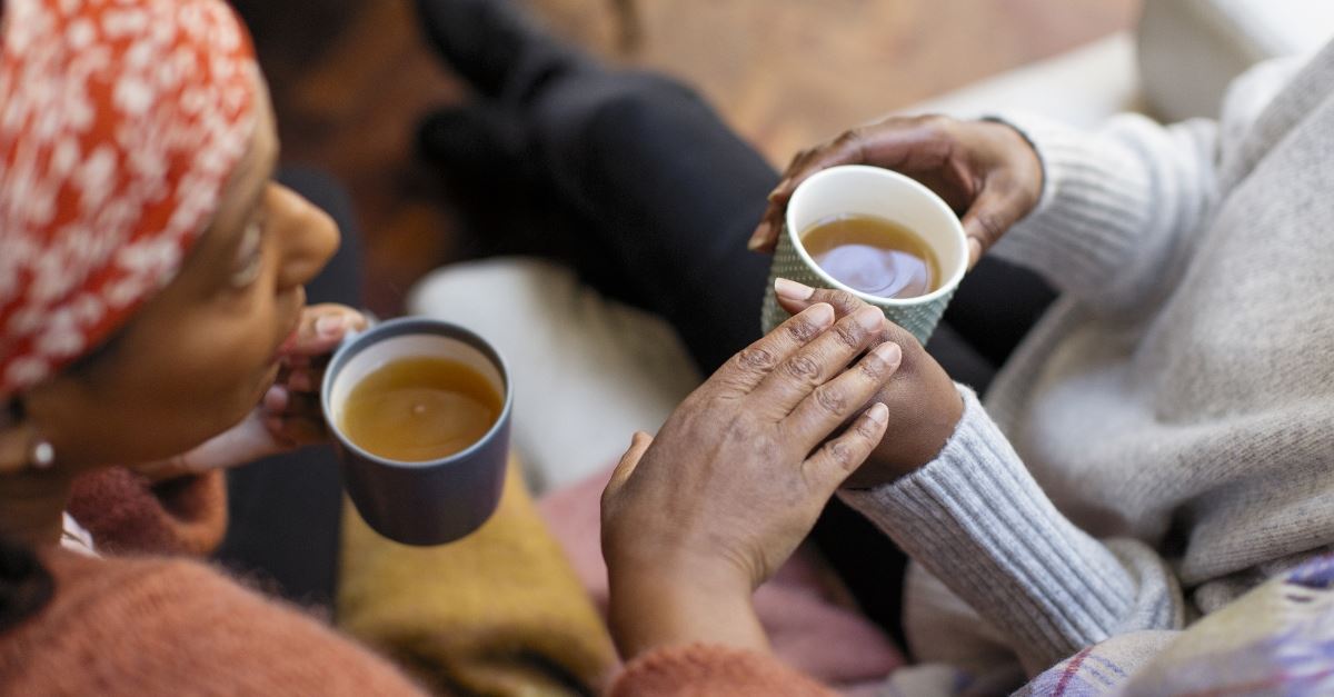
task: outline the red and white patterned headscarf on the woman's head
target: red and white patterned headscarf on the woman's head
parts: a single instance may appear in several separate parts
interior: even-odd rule
[[[220,0],[3,0],[0,402],[179,271],[255,128]]]

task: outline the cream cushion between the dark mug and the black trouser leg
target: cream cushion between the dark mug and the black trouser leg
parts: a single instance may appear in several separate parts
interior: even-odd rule
[[[504,357],[511,447],[538,494],[615,463],[630,434],[656,433],[700,381],[666,322],[548,262],[454,264],[422,279],[407,306],[476,331]]]

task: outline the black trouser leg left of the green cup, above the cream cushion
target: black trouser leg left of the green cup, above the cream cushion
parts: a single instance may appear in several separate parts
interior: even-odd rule
[[[667,318],[704,374],[758,339],[768,258],[746,240],[778,183],[763,158],[655,75],[571,69],[530,109],[546,179],[590,223],[582,271]]]

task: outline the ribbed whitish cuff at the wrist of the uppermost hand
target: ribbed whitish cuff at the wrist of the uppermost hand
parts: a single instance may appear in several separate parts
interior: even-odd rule
[[[1137,251],[1149,207],[1143,167],[1093,134],[1029,113],[991,116],[1018,130],[1042,160],[1038,207],[994,252],[1058,288],[1098,294]]]

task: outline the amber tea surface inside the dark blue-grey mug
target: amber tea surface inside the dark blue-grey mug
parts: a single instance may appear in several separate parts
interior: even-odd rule
[[[491,382],[458,361],[402,358],[352,387],[339,429],[368,453],[422,462],[478,442],[500,417],[502,405]]]

